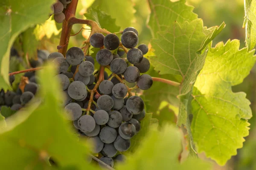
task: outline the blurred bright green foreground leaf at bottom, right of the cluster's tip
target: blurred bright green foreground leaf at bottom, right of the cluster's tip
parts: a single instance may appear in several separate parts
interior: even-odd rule
[[[128,156],[119,170],[211,170],[210,164],[200,159],[187,159],[182,164],[178,156],[182,150],[181,134],[173,126],[163,131],[151,130],[137,152]]]

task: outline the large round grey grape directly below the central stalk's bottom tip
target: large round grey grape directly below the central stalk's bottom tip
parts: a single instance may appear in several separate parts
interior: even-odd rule
[[[78,119],[79,129],[84,133],[90,133],[94,130],[96,123],[92,116],[83,115]]]

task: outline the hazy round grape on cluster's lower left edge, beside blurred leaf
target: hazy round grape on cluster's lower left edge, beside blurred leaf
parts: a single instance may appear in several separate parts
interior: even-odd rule
[[[81,106],[74,102],[67,104],[65,110],[67,111],[67,119],[69,120],[77,120],[82,115]]]

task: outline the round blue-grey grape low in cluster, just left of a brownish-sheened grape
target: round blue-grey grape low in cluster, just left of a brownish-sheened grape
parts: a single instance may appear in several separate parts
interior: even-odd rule
[[[99,137],[102,140],[102,142],[110,144],[115,141],[117,136],[117,132],[114,128],[105,126],[102,128],[102,130],[99,133]]]

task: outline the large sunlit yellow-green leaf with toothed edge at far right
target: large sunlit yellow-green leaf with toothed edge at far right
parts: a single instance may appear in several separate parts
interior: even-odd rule
[[[255,62],[254,50],[239,50],[239,40],[209,48],[204,68],[195,82],[192,100],[192,134],[199,152],[224,165],[241,148],[252,117],[244,93],[233,93]]]

